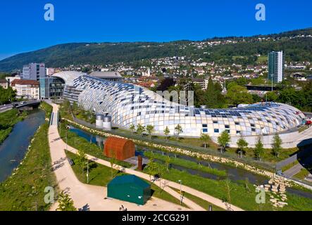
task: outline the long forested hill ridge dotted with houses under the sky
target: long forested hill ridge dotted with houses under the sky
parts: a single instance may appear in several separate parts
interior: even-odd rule
[[[216,42],[220,41],[220,44]],[[256,63],[257,54],[285,51],[286,60],[312,61],[312,28],[254,37],[224,37],[204,41],[72,43],[21,53],[0,61],[0,72],[21,69],[27,63],[46,63],[47,67],[117,62],[135,62],[149,58],[188,56],[221,64]]]

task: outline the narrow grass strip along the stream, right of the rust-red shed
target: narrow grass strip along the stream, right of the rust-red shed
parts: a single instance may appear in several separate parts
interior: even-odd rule
[[[148,157],[148,158],[153,157],[155,159],[162,160],[164,162],[166,161],[166,158],[167,158],[166,155],[161,155],[161,154],[158,154],[158,153],[151,153],[151,152],[148,152],[148,151],[144,152],[144,155],[146,157]],[[206,166],[199,165],[196,162],[192,162],[192,161],[189,161],[189,160],[183,160],[183,159],[180,159],[180,158],[170,157],[170,164],[180,165],[182,167],[186,167],[186,168],[189,168],[189,169],[200,170],[200,171],[203,171],[203,172],[207,172],[209,174],[215,174],[217,176],[227,176],[227,172],[225,170],[209,168],[209,167],[206,167]]]

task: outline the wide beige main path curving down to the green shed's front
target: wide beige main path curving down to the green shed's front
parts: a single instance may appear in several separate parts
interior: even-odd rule
[[[54,105],[54,115],[58,112],[58,106]],[[65,143],[58,134],[57,124],[55,120],[51,122],[49,127],[49,146],[51,152],[51,161],[54,172],[56,174],[56,181],[61,191],[67,192],[73,199],[75,207],[80,210],[99,210],[99,211],[114,211],[119,210],[121,205],[131,211],[178,211],[189,210],[186,207],[169,203],[159,198],[151,198],[144,206],[136,205],[134,203],[127,203],[116,199],[104,199],[106,198],[106,187],[92,186],[82,184],[73,169],[70,167],[65,155]],[[70,148],[75,152],[74,148]],[[91,158],[91,157],[90,157]],[[51,207],[51,210],[56,210],[57,203]]]

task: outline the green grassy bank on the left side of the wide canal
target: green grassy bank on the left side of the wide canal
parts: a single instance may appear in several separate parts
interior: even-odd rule
[[[0,113],[0,144],[6,140],[15,124],[24,120],[27,112],[19,113],[17,109]]]

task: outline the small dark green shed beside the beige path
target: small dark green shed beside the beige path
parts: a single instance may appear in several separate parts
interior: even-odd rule
[[[107,197],[144,205],[151,198],[151,185],[135,175],[116,176],[107,185]]]

